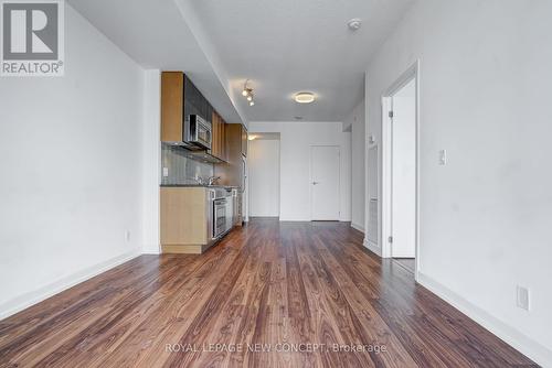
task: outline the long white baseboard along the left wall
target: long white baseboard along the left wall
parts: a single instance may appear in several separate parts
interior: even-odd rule
[[[7,303],[0,305],[0,320],[9,317],[12,314],[15,314],[20,311],[28,309],[31,305],[42,302],[50,296],[53,296],[57,293],[61,293],[64,290],[67,290],[83,281],[92,279],[95,275],[98,275],[102,272],[105,272],[114,267],[117,267],[121,263],[125,263],[138,256],[140,256],[140,251],[131,251],[119,257],[112,258],[105,262],[100,262],[91,268],[87,268],[81,272],[73,273],[68,277],[62,278],[46,286],[40,288],[35,291],[25,293],[20,295]]]

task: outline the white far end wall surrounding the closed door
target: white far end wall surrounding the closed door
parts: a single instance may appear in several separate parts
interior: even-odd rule
[[[350,133],[341,122],[250,122],[250,132],[280,133],[280,220],[310,220],[310,145],[341,148],[341,220],[350,220]]]

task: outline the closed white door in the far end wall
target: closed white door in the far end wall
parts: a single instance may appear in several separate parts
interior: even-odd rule
[[[339,147],[310,148],[312,220],[339,220]]]

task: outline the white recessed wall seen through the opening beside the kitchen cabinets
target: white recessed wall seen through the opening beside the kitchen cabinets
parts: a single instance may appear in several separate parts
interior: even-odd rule
[[[250,141],[250,216],[279,216],[279,140]]]

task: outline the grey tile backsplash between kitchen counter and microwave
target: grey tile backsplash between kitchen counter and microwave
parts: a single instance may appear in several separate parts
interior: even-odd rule
[[[163,175],[163,172],[168,176]],[[213,176],[214,165],[198,161],[190,156],[190,152],[167,143],[161,143],[161,184],[195,184],[195,177],[208,178]]]

